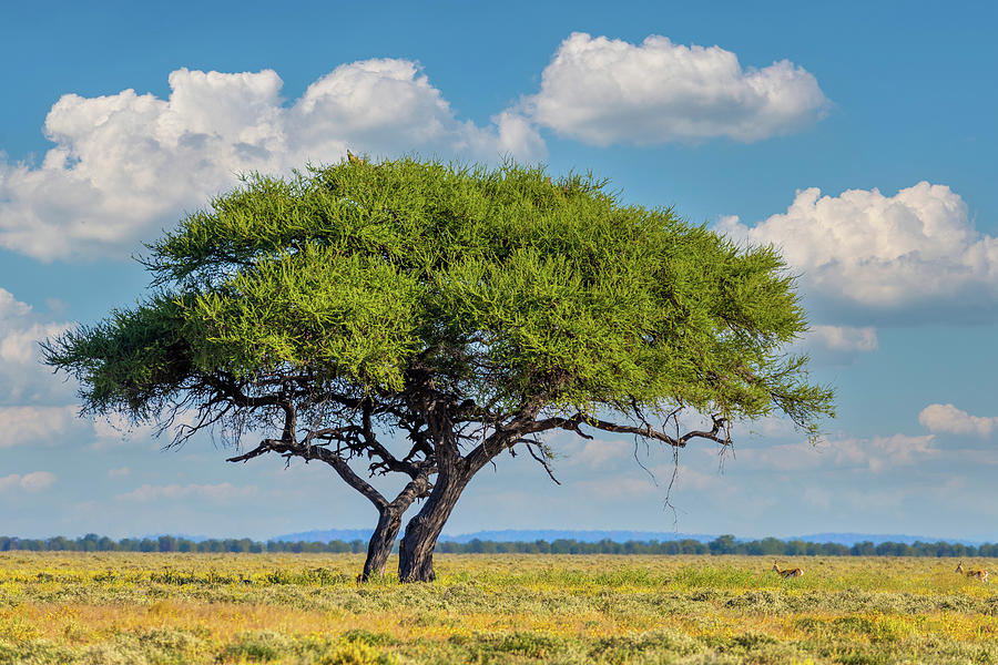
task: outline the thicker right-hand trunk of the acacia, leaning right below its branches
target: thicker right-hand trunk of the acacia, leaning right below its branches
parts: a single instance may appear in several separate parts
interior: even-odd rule
[[[434,572],[437,539],[472,475],[475,472],[464,466],[439,472],[422,510],[406,524],[406,534],[398,550],[398,579],[401,582],[432,582],[437,579]]]

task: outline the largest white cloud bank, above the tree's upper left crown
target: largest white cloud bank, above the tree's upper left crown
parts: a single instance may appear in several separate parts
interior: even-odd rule
[[[41,259],[121,255],[237,184],[238,173],[287,173],[347,147],[496,161],[544,155],[522,115],[489,126],[459,120],[408,60],[343,64],[287,105],[271,70],[181,69],[167,99],[124,90],[63,95],[45,120],[55,145],[41,165],[0,162],[0,246]]]

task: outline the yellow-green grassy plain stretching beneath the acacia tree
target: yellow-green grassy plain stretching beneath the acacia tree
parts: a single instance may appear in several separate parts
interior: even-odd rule
[[[998,663],[949,559],[0,553],[0,663]],[[968,560],[981,567],[991,561]]]

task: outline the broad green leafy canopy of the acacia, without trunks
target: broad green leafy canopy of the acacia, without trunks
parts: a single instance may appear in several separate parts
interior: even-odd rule
[[[780,254],[607,186],[413,158],[253,175],[149,245],[173,295],[64,336],[49,361],[93,410],[288,368],[399,395],[418,370],[498,412],[776,410],[815,431],[832,392],[783,357],[806,325]]]

